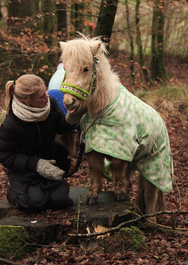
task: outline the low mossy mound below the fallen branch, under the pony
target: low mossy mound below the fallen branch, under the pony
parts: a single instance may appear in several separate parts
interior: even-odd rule
[[[146,247],[140,230],[131,226],[130,228],[121,228],[118,232],[105,239],[106,253],[116,253],[118,251],[126,252],[128,249],[138,252]]]

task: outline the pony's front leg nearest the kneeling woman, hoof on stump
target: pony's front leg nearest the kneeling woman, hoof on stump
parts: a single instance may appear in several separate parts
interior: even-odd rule
[[[91,186],[87,195],[86,204],[91,205],[96,204],[99,192],[101,192],[104,155],[93,150],[87,153],[87,161],[90,168]]]

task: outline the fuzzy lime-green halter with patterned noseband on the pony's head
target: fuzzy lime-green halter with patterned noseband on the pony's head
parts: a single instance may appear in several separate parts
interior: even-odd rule
[[[95,81],[97,80],[96,79],[96,73],[100,73],[99,69],[97,68],[97,63],[99,62],[99,59],[96,56],[93,56],[93,59],[94,59],[93,73],[92,73],[92,80],[91,80],[89,92],[80,88],[79,86],[75,86],[75,85],[70,84],[70,83],[65,83],[64,81],[66,78],[66,74],[65,74],[63,81],[61,83],[60,91],[63,93],[69,93],[69,94],[75,96],[76,98],[87,100],[87,97],[91,93],[92,89],[95,89]]]

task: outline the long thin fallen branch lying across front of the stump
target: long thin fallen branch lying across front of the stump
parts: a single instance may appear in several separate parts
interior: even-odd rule
[[[146,219],[148,217],[154,217],[154,216],[161,215],[161,214],[173,214],[173,213],[174,213],[174,211],[160,211],[160,212],[157,212],[154,214],[144,214],[143,216],[140,216],[140,217],[133,219],[133,220],[123,222],[123,223],[119,224],[118,226],[113,227],[111,229],[107,229],[105,231],[101,231],[101,232],[97,232],[97,233],[91,233],[91,234],[69,234],[69,236],[71,236],[71,237],[94,237],[94,236],[106,235],[108,233],[119,231],[124,226],[127,226],[129,224],[133,224],[135,222],[138,222],[142,219]],[[187,213],[188,213],[188,211],[176,211],[176,214],[187,214]],[[179,229],[176,228],[176,230],[179,230]],[[184,228],[184,230],[188,231],[188,228]]]

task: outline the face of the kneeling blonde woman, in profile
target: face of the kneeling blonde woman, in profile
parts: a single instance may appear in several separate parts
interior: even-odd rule
[[[49,98],[49,95],[46,93],[46,87],[43,83],[40,85],[40,90],[35,95],[35,97],[29,100],[29,102],[25,100],[25,104],[27,104],[30,107],[34,107],[34,108],[43,108],[46,106],[48,102],[48,98]]]

